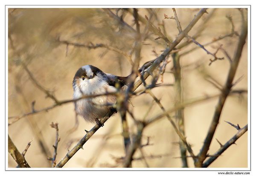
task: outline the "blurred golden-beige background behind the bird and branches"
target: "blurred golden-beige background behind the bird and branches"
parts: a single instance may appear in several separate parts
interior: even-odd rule
[[[113,14],[121,17],[125,23],[136,29],[132,9],[111,9]],[[176,9],[180,25],[183,29],[190,23],[200,9]],[[153,12],[153,13],[152,13]],[[203,27],[203,31],[196,39],[205,44],[218,39],[221,36],[232,33],[232,23],[226,17],[232,17],[235,31],[241,32],[241,13],[238,9],[208,9],[208,14],[196,23],[189,35],[197,34]],[[247,11],[244,10],[244,14]],[[175,20],[164,19],[174,16],[172,9],[138,9],[138,13],[145,19],[153,14],[151,22],[159,26],[170,40],[175,40],[178,35]],[[209,15],[211,17],[208,19]],[[245,16],[247,18],[247,16]],[[24,63],[38,83],[52,92],[58,100],[72,99],[72,81],[76,71],[84,65],[90,64],[98,67],[103,72],[119,76],[127,76],[131,73],[131,64],[126,57],[118,52],[106,48],[88,49],[68,45],[60,41],[70,43],[97,44],[103,43],[128,53],[134,44],[134,33],[120,27],[120,22],[110,17],[104,9],[9,9],[9,60],[8,60],[8,116],[23,115],[32,111],[32,102],[35,101],[35,110],[40,110],[54,104],[51,98],[38,89],[35,82],[29,77],[21,63]],[[163,25],[164,24],[164,25]],[[164,26],[164,28],[163,28]],[[141,32],[145,23],[140,21]],[[165,29],[165,30],[164,30]],[[149,31],[148,38],[143,42],[141,50],[140,66],[146,61],[157,58],[164,49],[166,43]],[[238,43],[238,36],[224,37],[210,45],[207,50],[214,53],[222,44],[222,48],[229,53],[231,58]],[[183,39],[182,43],[187,39]],[[178,45],[179,46],[179,45]],[[178,47],[177,46],[177,47]],[[196,49],[194,49],[196,47]],[[194,49],[191,51],[191,49]],[[212,56],[190,43],[179,52],[182,68],[182,98],[189,100],[205,95],[215,95],[220,92],[212,84],[206,81],[206,77],[215,78],[221,85],[227,79],[230,63],[223,52],[217,56],[224,60],[213,62],[209,66]],[[163,74],[164,84],[174,84],[172,74],[173,62],[166,66]],[[247,43],[244,45],[241,60],[234,80],[241,76],[242,79],[233,89],[247,90]],[[150,81],[150,77],[147,81]],[[161,83],[161,79],[157,83]],[[138,89],[142,89],[143,86]],[[166,109],[173,107],[175,103],[174,88],[170,86],[152,89],[157,98]],[[150,108],[146,119],[162,113],[154,104],[153,99],[147,94],[131,98],[134,107],[129,107],[134,118],[143,119]],[[187,141],[192,146],[195,154],[200,151],[204,138],[212,121],[218,98],[204,101],[184,109],[184,128]],[[171,114],[172,116],[174,115]],[[237,130],[224,121],[239,124],[244,127],[247,124],[247,94],[229,96],[224,104],[221,118],[209,148],[209,154],[215,153],[220,147],[215,138],[222,144],[232,138]],[[29,115],[21,118],[16,123],[9,125],[8,133],[20,153],[32,139],[31,146],[25,158],[31,167],[51,167],[47,157],[52,157],[55,144],[55,129],[50,127],[52,122],[58,122],[59,137],[57,164],[64,158],[68,150],[71,150],[77,142],[86,134],[84,130],[90,130],[94,124],[78,117],[76,126],[76,114],[73,103],[63,104],[48,112]],[[8,120],[9,122],[12,119]],[[129,131],[134,131],[134,121],[128,115]],[[72,130],[73,129],[73,130]],[[150,145],[143,147],[145,160],[141,159],[141,153],[134,154],[132,167],[182,167],[180,159],[180,147],[177,144],[179,138],[167,118],[149,125],[143,131],[142,142]],[[245,133],[231,145],[209,167],[247,167],[248,163],[248,138]],[[125,156],[122,137],[122,124],[119,113],[111,117],[84,146],[79,150],[64,167],[121,167],[120,158]],[[136,159],[137,158],[137,159]],[[188,158],[189,167],[194,167],[193,160]],[[8,167],[16,167],[17,163],[9,154]]]

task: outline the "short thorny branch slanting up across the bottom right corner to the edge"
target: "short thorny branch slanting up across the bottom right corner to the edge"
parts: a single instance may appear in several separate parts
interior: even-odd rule
[[[240,138],[245,132],[247,132],[247,130],[248,124],[245,125],[243,128],[239,129],[239,131],[236,133],[235,136],[233,136],[233,138],[231,138],[229,141],[226,142],[226,144],[221,146],[221,148],[217,152],[215,152],[213,156],[211,156],[206,162],[204,162],[204,164],[202,164],[202,167],[208,167],[210,164],[212,164],[212,162],[214,162],[215,159],[217,159],[218,156],[221,155],[221,153],[227,150],[227,148],[230,147],[230,145],[235,144],[236,140]]]

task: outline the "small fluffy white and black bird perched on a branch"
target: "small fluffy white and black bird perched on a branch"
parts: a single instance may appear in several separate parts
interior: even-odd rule
[[[116,76],[102,72],[92,65],[85,65],[79,68],[73,79],[73,98],[81,98],[84,95],[100,95],[117,91],[116,83],[119,83],[119,91],[123,92],[127,77]],[[93,98],[82,98],[75,101],[76,113],[81,115],[85,121],[98,124],[108,111],[116,103],[115,95],[96,96]]]

